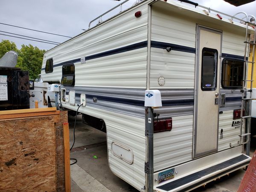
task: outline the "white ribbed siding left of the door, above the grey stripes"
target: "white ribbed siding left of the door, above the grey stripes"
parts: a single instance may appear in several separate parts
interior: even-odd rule
[[[159,41],[195,48],[195,26],[180,15],[172,15],[166,10],[152,9],[151,41]],[[166,82],[158,84],[163,76]],[[194,88],[195,54],[181,51],[151,48],[150,88],[176,89]]]

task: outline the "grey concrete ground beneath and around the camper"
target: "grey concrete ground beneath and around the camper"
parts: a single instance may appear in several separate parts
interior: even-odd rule
[[[73,144],[74,122],[75,117],[69,116],[70,146]],[[70,153],[70,157],[77,160],[70,166],[72,192],[138,192],[109,169],[105,133],[83,124],[79,115],[75,135],[76,142]],[[253,137],[251,153],[256,149],[255,141]],[[244,173],[243,169],[237,170],[192,192],[236,192]]]

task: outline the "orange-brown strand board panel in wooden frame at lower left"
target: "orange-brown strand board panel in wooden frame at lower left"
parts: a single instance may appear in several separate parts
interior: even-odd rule
[[[56,191],[53,116],[0,120],[0,191]]]

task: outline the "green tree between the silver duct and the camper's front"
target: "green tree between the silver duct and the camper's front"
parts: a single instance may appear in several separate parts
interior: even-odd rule
[[[18,55],[22,60],[17,63],[16,67],[24,71],[29,71],[29,78],[35,79],[41,73],[44,53],[44,49],[38,49],[38,47],[33,47],[31,44],[23,44],[18,51]]]

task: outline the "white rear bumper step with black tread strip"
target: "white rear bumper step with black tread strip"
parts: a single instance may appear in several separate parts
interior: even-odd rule
[[[242,154],[241,150],[242,146],[238,146],[175,166],[175,177],[160,184],[155,181],[154,190],[159,192],[190,191],[241,169],[251,160],[251,157]],[[157,179],[158,173],[154,173],[154,180]]]

